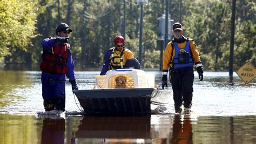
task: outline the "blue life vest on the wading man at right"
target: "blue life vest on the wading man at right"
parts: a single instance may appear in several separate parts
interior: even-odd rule
[[[177,43],[173,43],[175,47],[175,56],[173,58],[173,68],[193,67],[193,60],[190,52],[190,42],[186,40],[186,46],[181,49]]]

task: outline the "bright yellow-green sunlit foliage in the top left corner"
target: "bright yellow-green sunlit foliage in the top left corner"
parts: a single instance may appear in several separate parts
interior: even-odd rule
[[[0,57],[13,54],[17,50],[29,51],[31,38],[35,37],[36,11],[35,2],[1,1]]]

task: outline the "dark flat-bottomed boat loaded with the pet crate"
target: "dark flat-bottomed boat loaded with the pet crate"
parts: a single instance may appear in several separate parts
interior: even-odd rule
[[[154,74],[137,69],[118,69],[96,76],[97,87],[75,90],[80,106],[89,114],[150,113],[151,105],[166,105],[172,92],[154,84]]]

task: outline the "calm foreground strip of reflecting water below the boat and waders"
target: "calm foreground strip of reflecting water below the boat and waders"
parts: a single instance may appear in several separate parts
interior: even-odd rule
[[[0,114],[0,143],[256,143],[256,116]]]

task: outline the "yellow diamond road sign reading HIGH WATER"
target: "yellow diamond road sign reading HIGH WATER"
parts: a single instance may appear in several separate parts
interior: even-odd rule
[[[254,65],[250,63],[250,61],[247,61],[235,72],[242,80],[244,80],[245,84],[250,83],[250,81],[256,77],[256,69]]]

